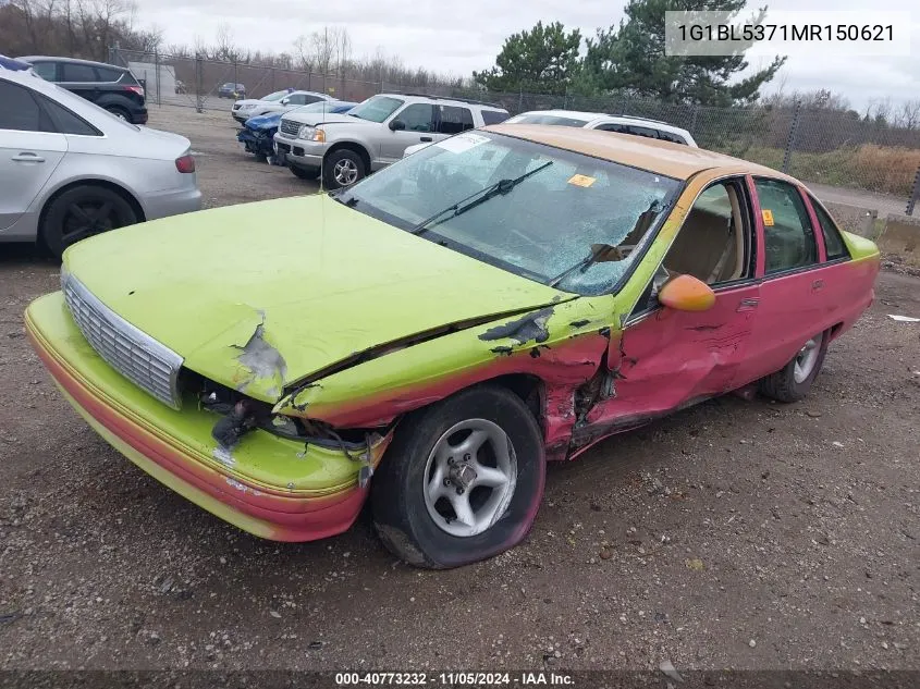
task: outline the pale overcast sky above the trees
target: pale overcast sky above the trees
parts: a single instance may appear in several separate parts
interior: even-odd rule
[[[913,0],[765,0],[776,10],[858,10],[871,21],[868,8],[910,11]],[[137,0],[137,19],[163,29],[165,44],[192,45],[196,37],[213,42],[218,26],[226,23],[234,41],[250,49],[291,49],[300,34],[323,26],[344,26],[355,57],[378,48],[398,56],[406,66],[469,75],[494,64],[504,39],[537,21],[559,21],[592,36],[599,26],[618,23],[617,0]],[[753,8],[759,2],[749,2]],[[898,102],[920,98],[920,9],[911,16],[910,57],[789,58],[774,86],[787,90],[830,88],[862,109],[872,100]],[[757,62],[757,60],[755,61]],[[757,66],[756,64],[752,66]]]

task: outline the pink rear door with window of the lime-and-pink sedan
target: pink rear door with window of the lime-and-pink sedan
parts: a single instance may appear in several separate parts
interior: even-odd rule
[[[784,180],[750,177],[756,200],[761,284],[753,378],[778,371],[829,327],[823,306],[823,245],[799,188]]]

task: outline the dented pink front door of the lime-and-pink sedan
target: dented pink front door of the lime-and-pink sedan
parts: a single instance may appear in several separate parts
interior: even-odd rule
[[[739,386],[760,303],[755,227],[743,177],[720,180],[699,194],[622,339],[611,343],[613,392],[588,414],[587,427],[637,426]],[[712,308],[662,306],[658,291],[678,274],[708,283],[715,294]]]

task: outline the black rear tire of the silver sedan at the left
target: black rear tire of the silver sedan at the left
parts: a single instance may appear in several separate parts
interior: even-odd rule
[[[45,247],[60,258],[65,248],[81,239],[136,222],[137,213],[121,194],[103,186],[81,185],[51,201],[38,233]]]

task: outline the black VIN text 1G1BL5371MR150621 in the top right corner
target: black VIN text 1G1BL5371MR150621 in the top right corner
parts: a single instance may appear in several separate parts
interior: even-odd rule
[[[680,24],[680,40],[891,41],[893,24]]]

